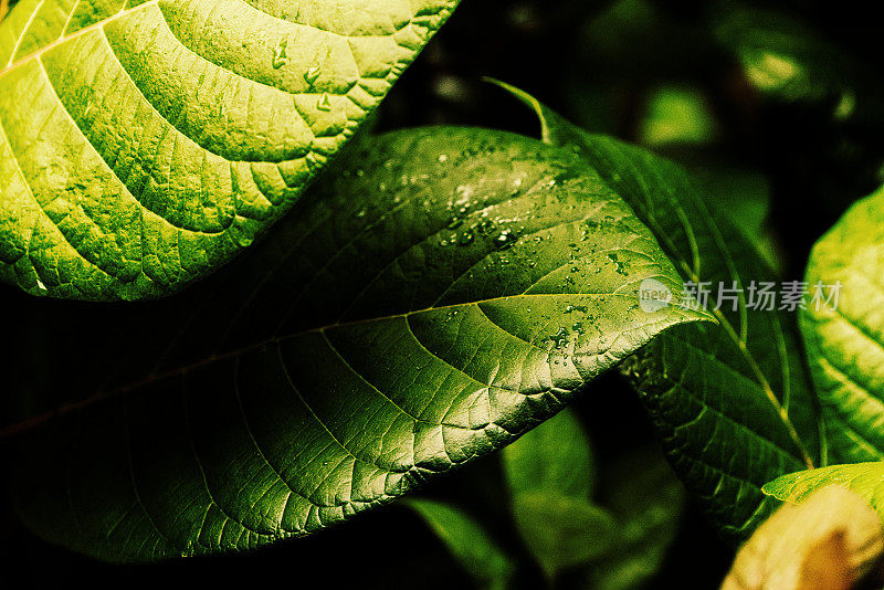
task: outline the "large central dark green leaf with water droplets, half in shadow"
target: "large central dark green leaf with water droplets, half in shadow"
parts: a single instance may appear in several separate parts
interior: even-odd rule
[[[0,431],[34,531],[124,561],[314,531],[505,446],[661,330],[711,318],[641,309],[643,280],[677,274],[567,150],[456,128],[358,148],[192,317],[128,327],[167,340],[147,347],[159,366]]]

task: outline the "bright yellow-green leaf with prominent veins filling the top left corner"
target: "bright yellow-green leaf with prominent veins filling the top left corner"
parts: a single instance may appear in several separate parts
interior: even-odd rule
[[[457,0],[22,0],[0,24],[0,280],[180,291],[298,200]]]

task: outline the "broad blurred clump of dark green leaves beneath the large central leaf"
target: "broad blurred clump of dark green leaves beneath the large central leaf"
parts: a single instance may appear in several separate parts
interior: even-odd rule
[[[638,588],[675,537],[684,488],[660,453],[620,457],[592,499],[596,464],[576,415],[562,411],[501,454],[514,519],[550,579],[582,570],[589,588]]]

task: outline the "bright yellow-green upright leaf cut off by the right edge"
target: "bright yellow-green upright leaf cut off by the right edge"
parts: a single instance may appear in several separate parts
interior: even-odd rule
[[[813,246],[801,313],[835,463],[884,459],[884,188]]]

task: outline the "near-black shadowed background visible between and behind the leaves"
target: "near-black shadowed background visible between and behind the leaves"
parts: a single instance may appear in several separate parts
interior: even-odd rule
[[[874,108],[859,120],[835,120],[836,96],[782,102],[754,91],[734,52],[713,39],[711,6],[688,0],[463,0],[383,103],[378,128],[456,124],[536,135],[530,113],[481,80],[493,76],[591,130],[639,140],[651,93],[661,84],[687,85],[702,95],[716,133],[714,140],[682,146],[676,155],[691,159],[702,152],[767,179],[768,226],[786,277],[798,278],[812,243],[852,201],[880,185],[884,125]],[[803,21],[857,64],[859,73],[850,77],[851,66],[849,76],[857,88],[877,92],[884,52],[880,31],[871,29],[880,19],[871,3],[780,1],[764,7]],[[76,399],[94,388],[114,364],[114,343],[104,328],[113,323],[125,333],[145,306],[36,301],[0,286],[0,309],[3,340],[10,345],[0,358],[0,423],[9,423],[45,400]],[[594,383],[577,408],[602,464],[653,440],[634,393],[615,376]],[[501,478],[496,457],[488,457],[436,482],[425,494],[481,514],[506,548],[524,554],[509,528]],[[470,583],[422,521],[394,505],[253,554],[149,567],[108,566],[48,546],[8,514],[6,503],[0,509],[0,588],[64,587],[74,580],[91,586],[248,582],[385,589]],[[715,588],[732,551],[691,507],[651,587]],[[518,579],[525,588],[540,581],[530,568]]]

